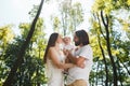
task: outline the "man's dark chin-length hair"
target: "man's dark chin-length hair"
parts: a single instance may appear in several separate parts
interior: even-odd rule
[[[79,42],[82,43],[82,45],[88,45],[90,43],[89,35],[84,30],[78,30],[75,33],[78,37]]]

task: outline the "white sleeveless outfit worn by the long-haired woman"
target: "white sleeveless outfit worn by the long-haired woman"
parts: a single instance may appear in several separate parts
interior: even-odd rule
[[[63,62],[65,56],[57,53],[57,59]],[[48,86],[64,86],[63,69],[55,67],[50,58],[47,59],[47,76]]]

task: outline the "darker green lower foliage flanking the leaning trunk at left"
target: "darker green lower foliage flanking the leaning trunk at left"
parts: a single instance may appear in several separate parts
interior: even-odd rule
[[[4,69],[0,72],[0,75],[3,75],[4,73],[4,77],[1,80],[5,80],[5,76],[8,76],[10,68],[16,59],[17,52],[20,51],[23,42],[24,40],[16,38],[15,42],[8,46],[5,55],[3,56],[5,67],[3,67]],[[37,57],[37,55],[29,54],[29,52],[30,49],[28,48],[26,55],[24,56],[23,63],[17,70],[15,83],[13,84],[14,86],[27,86],[34,85],[35,83],[44,84],[47,82],[42,58]]]

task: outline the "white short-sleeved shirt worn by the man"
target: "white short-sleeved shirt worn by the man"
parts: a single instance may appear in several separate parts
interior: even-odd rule
[[[76,80],[84,80],[89,84],[89,75],[93,64],[93,52],[90,45],[84,45],[74,53],[76,58],[84,57],[84,68],[74,67],[68,70],[67,85],[74,83]]]

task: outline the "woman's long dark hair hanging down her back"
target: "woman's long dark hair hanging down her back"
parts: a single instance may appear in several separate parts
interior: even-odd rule
[[[57,37],[58,37],[58,33],[54,32],[50,35],[49,38],[49,41],[48,41],[48,45],[47,45],[47,48],[46,48],[46,52],[44,52],[44,56],[43,56],[43,62],[47,63],[47,55],[48,55],[48,52],[49,52],[49,48],[51,46],[54,46],[55,45],[55,42],[57,40]]]

